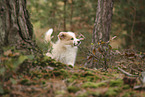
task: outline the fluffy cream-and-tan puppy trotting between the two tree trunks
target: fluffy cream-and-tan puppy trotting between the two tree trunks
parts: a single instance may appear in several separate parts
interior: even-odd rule
[[[61,63],[74,66],[78,46],[81,44],[73,32],[60,32],[56,43],[51,41],[53,29],[49,29],[45,34],[45,40],[52,45],[52,52],[47,56]]]

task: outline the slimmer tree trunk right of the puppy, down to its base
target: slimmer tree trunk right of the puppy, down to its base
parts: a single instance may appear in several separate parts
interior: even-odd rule
[[[92,34],[92,43],[94,45],[92,46],[91,51],[92,53],[89,54],[88,56],[89,59],[85,64],[88,67],[96,67],[96,65],[99,65],[99,62],[94,61],[95,60],[94,56],[98,56],[97,52],[98,48],[96,48],[96,44],[98,44],[98,42],[101,41],[103,42],[109,41],[109,33],[111,30],[110,28],[112,21],[112,9],[113,9],[113,0],[98,0],[96,19]]]

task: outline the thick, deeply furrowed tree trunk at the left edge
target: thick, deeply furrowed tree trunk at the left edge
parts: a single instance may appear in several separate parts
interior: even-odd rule
[[[36,44],[32,37],[33,26],[26,0],[0,0],[0,50],[4,46],[18,46],[21,42],[34,50]]]

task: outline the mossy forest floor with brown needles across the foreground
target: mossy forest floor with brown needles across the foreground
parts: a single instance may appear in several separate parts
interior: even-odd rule
[[[16,57],[17,54],[13,56]],[[19,59],[24,60],[26,57]],[[7,59],[3,57],[3,60]],[[20,63],[22,63],[21,69],[17,68],[16,72],[3,70],[4,74],[0,77],[2,79],[0,96],[145,97],[144,89],[133,89],[135,85],[140,84],[138,78],[125,80],[124,74],[114,67],[105,71],[79,66],[71,67],[48,57]]]

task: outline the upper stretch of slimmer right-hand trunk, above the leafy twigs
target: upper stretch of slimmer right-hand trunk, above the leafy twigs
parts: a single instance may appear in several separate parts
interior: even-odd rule
[[[92,42],[107,42],[112,21],[113,0],[98,0]]]

